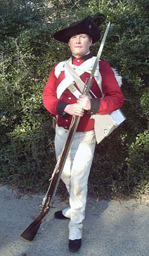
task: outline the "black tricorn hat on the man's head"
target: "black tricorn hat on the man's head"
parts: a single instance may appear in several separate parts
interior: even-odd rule
[[[96,27],[93,22],[93,18],[88,16],[80,22],[74,22],[70,27],[62,29],[54,33],[54,38],[63,43],[68,43],[72,36],[79,33],[87,33],[93,39],[92,43],[96,43],[100,40],[100,30]]]

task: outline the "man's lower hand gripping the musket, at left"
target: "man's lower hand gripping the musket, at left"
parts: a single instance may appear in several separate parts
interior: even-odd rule
[[[69,104],[65,107],[64,111],[68,114],[71,114],[72,116],[83,116],[84,115],[84,109],[78,104]]]

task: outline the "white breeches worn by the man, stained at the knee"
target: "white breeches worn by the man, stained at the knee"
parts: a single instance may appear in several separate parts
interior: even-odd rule
[[[56,158],[61,156],[68,137],[68,130],[56,126]],[[70,218],[69,239],[81,238],[82,221],[85,217],[88,176],[95,151],[95,131],[75,133],[68,158],[65,161],[61,179],[70,195],[70,207],[63,210],[63,215]]]

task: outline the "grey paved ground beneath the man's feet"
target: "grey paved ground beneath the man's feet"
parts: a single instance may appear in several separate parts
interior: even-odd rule
[[[11,189],[0,187],[0,256],[148,256],[149,206],[134,199],[101,200],[88,197],[82,246],[68,250],[69,220],[54,219],[54,211],[66,206],[56,198],[32,243],[20,234],[38,216],[43,195],[17,198]]]

